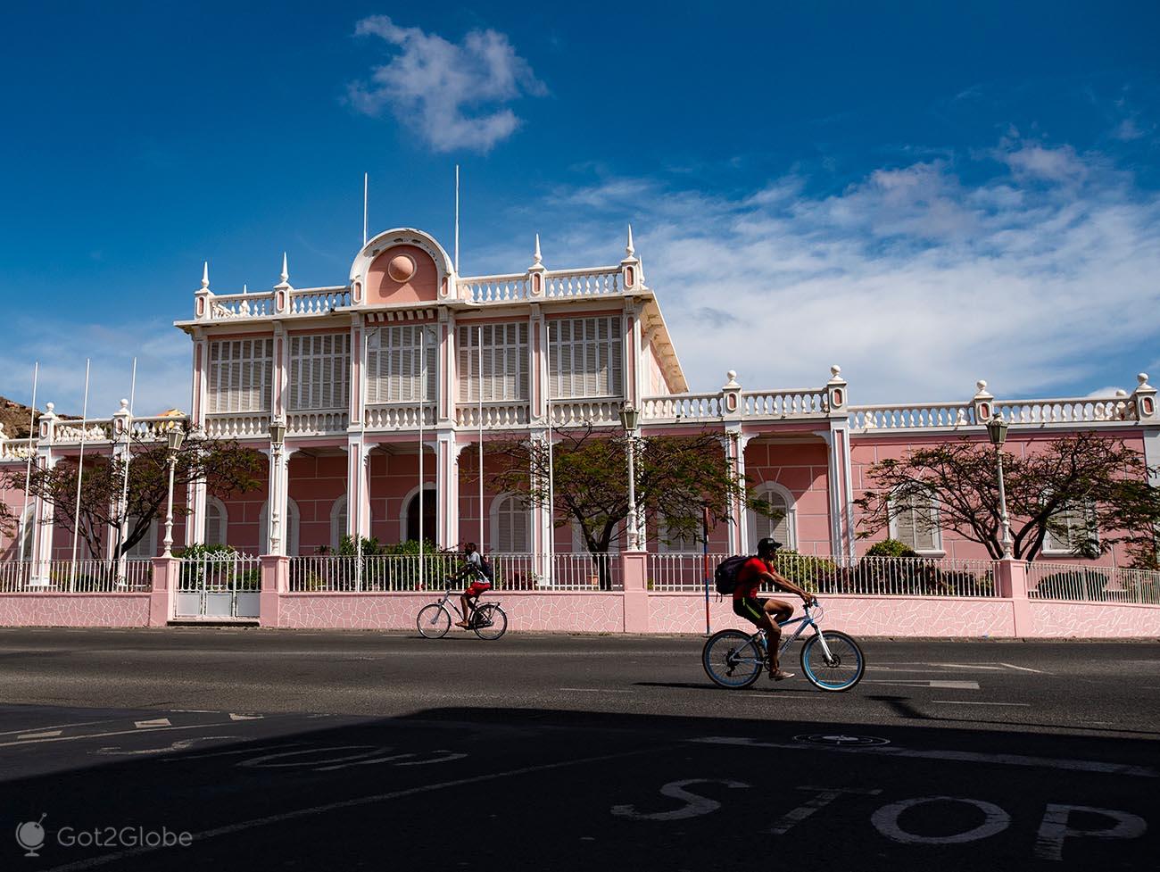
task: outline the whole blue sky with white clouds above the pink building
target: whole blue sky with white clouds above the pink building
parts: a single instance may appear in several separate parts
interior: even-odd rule
[[[1155,3],[68,3],[0,32],[0,393],[188,406],[211,286],[346,281],[362,232],[462,271],[615,263],[693,390],[853,402],[1160,377]],[[1153,379],[1155,380],[1155,379]]]

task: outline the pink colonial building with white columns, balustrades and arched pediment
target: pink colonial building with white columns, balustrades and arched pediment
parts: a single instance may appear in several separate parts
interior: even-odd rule
[[[188,514],[177,519],[175,539],[230,544],[280,558],[275,564],[283,567],[287,557],[317,554],[345,535],[397,543],[421,532],[441,547],[481,538],[485,551],[525,558],[538,567],[534,587],[543,596],[583,587],[590,573],[574,571],[583,576],[578,582],[561,562],[583,550],[574,530],[553,525],[546,509],[496,492],[486,474],[480,489],[478,477],[461,475],[459,459],[483,443],[486,473],[488,442],[551,439],[575,426],[618,429],[624,404],[640,412],[645,436],[716,431],[737,468],[784,509],[771,528],[735,507],[731,522],[710,536],[715,553],[745,552],[756,538],[774,535],[803,554],[855,560],[865,544],[855,535],[854,499],[868,485],[868,467],[921,444],[964,435],[985,441],[984,422],[994,414],[1010,423],[1009,451],[1034,450],[1037,441],[1061,431],[1094,429],[1123,439],[1150,464],[1160,463],[1157,392],[1145,375],[1132,394],[1107,399],[1007,400],[979,382],[973,395],[966,391],[959,401],[858,406],[850,404],[839,366],[819,373],[813,387],[748,390],[730,371],[718,391],[690,393],[631,230],[625,256],[611,266],[549,269],[537,239],[522,270],[474,277],[457,275],[429,234],[390,230],[367,242],[347,281],[333,286],[292,286],[283,260],[281,281],[270,290],[223,295],[210,286],[206,269],[193,317],[176,326],[193,343],[193,427],[251,444],[270,463],[253,493],[227,500],[204,488],[179,494]],[[129,435],[155,437],[171,421],[131,419],[123,404],[117,414],[82,428],[57,419],[50,405],[37,438],[3,441],[0,434],[0,464],[23,464],[30,456],[55,464],[75,455],[82,439],[87,451],[123,450]],[[271,422],[285,426],[281,444],[271,442]],[[22,509],[20,494],[0,496]],[[918,513],[931,513],[933,523],[920,523]],[[28,517],[41,522],[24,526],[29,561],[45,565],[70,555],[70,537],[59,529],[53,533],[51,506],[29,506]],[[697,583],[691,557],[688,566],[680,557],[694,550],[690,544],[667,542],[655,529],[641,532],[647,557],[640,572],[648,590],[680,590],[683,576],[672,584],[665,580],[687,572]],[[889,532],[931,559],[988,560],[981,546],[940,531],[937,509],[916,506]],[[133,557],[159,554],[161,538],[158,530]],[[17,545],[0,540],[0,553],[15,560]],[[1067,552],[1067,543],[1049,543],[1044,559],[1075,562]],[[1123,562],[1115,553],[1104,562],[1117,559]],[[551,561],[554,568],[545,572]],[[295,590],[292,571],[278,572],[263,591],[284,601],[276,608],[281,617],[269,623],[293,625],[287,616],[304,615],[309,604],[291,597],[307,591]],[[619,569],[615,575],[619,587]],[[172,600],[164,609],[173,608]],[[193,606],[176,608],[181,615]],[[234,602],[230,613],[239,615],[239,608]],[[339,613],[332,605],[319,608]],[[367,617],[367,609],[379,606],[342,608],[348,611],[340,617],[299,625],[390,624],[382,615]],[[399,608],[401,615],[411,604]],[[648,609],[657,620],[645,620],[646,628],[684,626],[683,618],[661,617],[676,609],[672,602]],[[621,628],[630,623],[628,610],[621,606]],[[204,596],[197,613],[213,613]],[[521,624],[516,617],[514,624],[550,620]]]

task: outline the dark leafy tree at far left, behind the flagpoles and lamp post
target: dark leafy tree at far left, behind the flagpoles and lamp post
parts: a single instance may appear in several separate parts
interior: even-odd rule
[[[258,451],[234,439],[200,438],[194,434],[194,438],[187,438],[176,452],[174,492],[202,481],[215,496],[249,490],[258,486],[255,474],[264,464]],[[110,561],[115,561],[148,535],[154,518],[164,519],[169,493],[169,450],[165,442],[133,439],[130,443],[129,488],[124,501],[124,459],[86,455],[80,475],[79,513],[77,474],[74,458],[63,458],[51,470],[34,465],[28,477],[28,489],[31,496],[52,502],[55,523],[70,533],[75,530],[93,559],[100,559],[106,552],[108,529],[119,531],[122,522],[129,522],[124,542],[118,543],[115,538],[109,543],[107,554]],[[22,490],[24,471],[3,473],[0,486]],[[173,514],[180,517],[186,514],[186,508],[175,502]]]

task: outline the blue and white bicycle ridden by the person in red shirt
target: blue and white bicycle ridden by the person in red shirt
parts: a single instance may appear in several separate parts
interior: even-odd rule
[[[818,622],[822,608],[814,600],[805,606],[800,618],[778,622],[784,627],[798,624],[792,633],[782,634],[778,653],[784,655],[786,648],[805,632],[813,627],[813,635],[802,644],[802,674],[814,686],[821,690],[849,690],[860,681],[865,671],[867,662],[862,648],[846,633],[827,630],[822,633]],[[759,630],[752,635],[742,630],[722,630],[705,641],[701,661],[705,674],[723,688],[738,690],[748,688],[761,677],[767,666],[766,633]]]

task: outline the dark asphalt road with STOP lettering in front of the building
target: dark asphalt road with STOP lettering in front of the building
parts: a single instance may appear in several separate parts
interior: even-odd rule
[[[0,857],[1158,867],[1160,645],[871,640],[846,693],[716,689],[701,645],[0,630],[0,823],[44,815]]]

